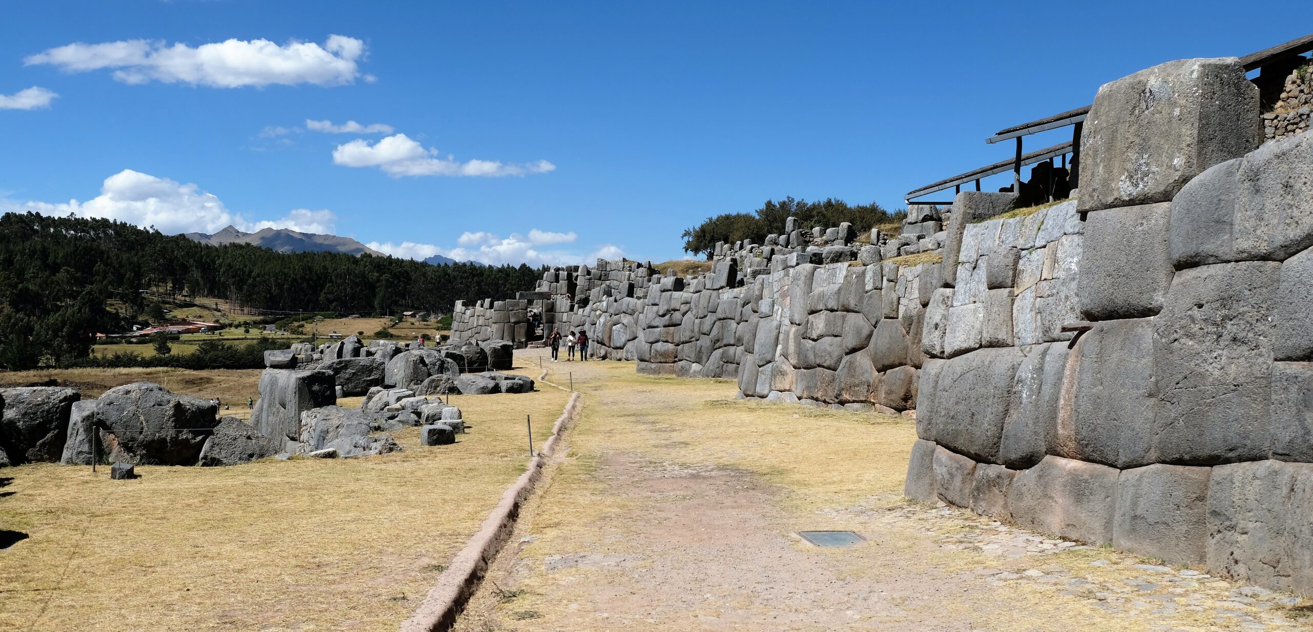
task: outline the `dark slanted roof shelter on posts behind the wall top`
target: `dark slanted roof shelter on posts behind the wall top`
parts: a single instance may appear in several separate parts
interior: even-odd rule
[[[1289,75],[1292,70],[1306,62],[1300,55],[1308,51],[1313,51],[1313,34],[1291,39],[1289,42],[1279,43],[1276,46],[1272,46],[1271,49],[1264,49],[1258,53],[1251,53],[1249,55],[1239,58],[1239,63],[1241,66],[1245,67],[1245,71],[1262,70],[1260,75],[1254,79],[1254,83],[1258,84],[1259,87],[1259,95],[1262,101],[1264,104],[1268,104],[1274,100],[1275,95],[1280,93],[1281,85],[1285,81],[1285,76]],[[993,145],[1002,141],[1015,139],[1016,155],[1011,160],[995,163],[976,171],[969,171],[960,176],[940,180],[935,184],[922,187],[916,191],[911,191],[905,196],[903,201],[911,204],[911,198],[914,197],[936,193],[949,187],[956,187],[960,189],[962,184],[969,183],[972,180],[976,180],[976,191],[979,191],[981,177],[1002,173],[1007,171],[1006,167],[1008,166],[1011,166],[1012,168],[1012,191],[1020,191],[1022,167],[1037,163],[1040,160],[1046,160],[1058,155],[1065,155],[1066,152],[1071,152],[1071,172],[1069,176],[1069,181],[1071,183],[1073,189],[1079,187],[1081,133],[1083,131],[1085,127],[1085,117],[1090,113],[1091,106],[1092,105],[1086,105],[1083,108],[1077,108],[1073,110],[1048,116],[1022,125],[1014,125],[1011,127],[995,131],[994,135],[986,138],[985,142]],[[1056,145],[1046,150],[1023,154],[1023,147],[1022,147],[1023,137],[1058,127],[1066,127],[1067,125],[1074,126],[1074,129],[1071,130],[1071,142]],[[1054,152],[1054,150],[1060,147],[1066,147],[1066,151]],[[1044,154],[1043,158],[1036,158],[1040,156],[1041,154]],[[948,202],[918,202],[918,204],[948,204]]]

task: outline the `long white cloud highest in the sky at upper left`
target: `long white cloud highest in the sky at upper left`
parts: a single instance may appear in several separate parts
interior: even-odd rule
[[[106,43],[70,43],[30,55],[28,66],[49,64],[66,72],[112,68],[127,84],[186,83],[215,88],[243,85],[349,84],[360,76],[356,60],[365,42],[330,35],[314,42],[277,45],[268,39],[227,39],[190,47],[185,43],[130,39]]]

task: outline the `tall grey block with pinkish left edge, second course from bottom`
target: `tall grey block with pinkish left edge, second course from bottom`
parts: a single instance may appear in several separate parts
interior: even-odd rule
[[[1153,327],[1152,318],[1106,321],[1081,336],[1071,403],[1060,405],[1052,453],[1115,468],[1153,463],[1159,414]]]

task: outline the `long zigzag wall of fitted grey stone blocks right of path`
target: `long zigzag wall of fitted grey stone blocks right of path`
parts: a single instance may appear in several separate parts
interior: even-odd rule
[[[910,498],[1309,594],[1313,135],[1264,131],[1237,59],[1170,62],[1099,89],[1073,200],[790,219],[555,318],[639,372],[914,409]]]

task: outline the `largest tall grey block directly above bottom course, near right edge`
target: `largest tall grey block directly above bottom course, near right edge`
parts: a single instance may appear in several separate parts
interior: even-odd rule
[[[1238,261],[1176,273],[1154,318],[1158,463],[1267,459],[1280,267]]]

